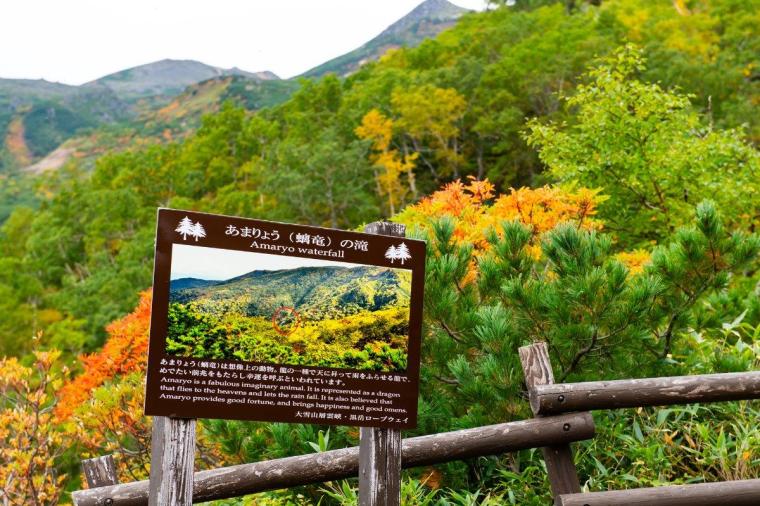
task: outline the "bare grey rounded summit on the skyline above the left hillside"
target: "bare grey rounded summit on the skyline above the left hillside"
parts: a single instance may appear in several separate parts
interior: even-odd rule
[[[223,76],[244,76],[256,81],[278,80],[272,72],[223,69],[194,60],[160,60],[109,74],[83,86],[106,86],[122,100],[173,96],[191,84]]]

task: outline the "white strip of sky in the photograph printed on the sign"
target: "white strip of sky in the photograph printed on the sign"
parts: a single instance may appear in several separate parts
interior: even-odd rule
[[[297,267],[358,267],[359,264],[331,262],[316,258],[267,255],[255,251],[204,248],[188,244],[172,246],[171,279],[199,278],[226,280],[251,271],[273,271]]]

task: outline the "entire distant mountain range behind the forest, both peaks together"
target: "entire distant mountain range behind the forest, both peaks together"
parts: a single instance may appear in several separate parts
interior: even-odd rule
[[[446,0],[426,0],[357,50],[304,76],[349,74],[388,49],[435,36],[465,12]],[[284,102],[298,87],[296,79],[268,71],[170,59],[81,86],[0,78],[0,177],[56,170],[71,159],[87,169],[105,152],[181,139],[225,101],[257,110]]]

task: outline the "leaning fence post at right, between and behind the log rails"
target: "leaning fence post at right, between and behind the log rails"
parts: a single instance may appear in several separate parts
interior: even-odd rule
[[[554,383],[554,372],[546,343],[523,346],[519,352],[525,384],[529,391],[540,385]],[[542,447],[541,451],[544,454],[544,462],[546,462],[546,472],[549,475],[552,496],[557,497],[560,494],[580,492],[578,471],[575,468],[570,445],[567,443],[549,445]]]

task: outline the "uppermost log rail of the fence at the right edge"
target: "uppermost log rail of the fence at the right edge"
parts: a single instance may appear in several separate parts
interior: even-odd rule
[[[534,413],[760,399],[760,371],[535,385]]]

